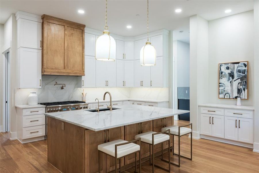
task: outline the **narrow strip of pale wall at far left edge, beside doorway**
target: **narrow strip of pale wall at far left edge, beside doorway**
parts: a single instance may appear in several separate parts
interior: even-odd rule
[[[0,24],[0,131],[3,128],[3,54],[2,54],[2,47],[4,44],[4,25]]]

